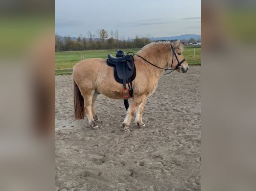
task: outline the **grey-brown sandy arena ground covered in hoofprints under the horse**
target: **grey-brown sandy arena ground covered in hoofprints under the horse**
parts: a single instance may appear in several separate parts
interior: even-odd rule
[[[98,131],[74,120],[72,77],[55,78],[55,188],[74,191],[201,190],[201,67],[160,78],[139,129],[122,132],[122,100],[99,95]]]

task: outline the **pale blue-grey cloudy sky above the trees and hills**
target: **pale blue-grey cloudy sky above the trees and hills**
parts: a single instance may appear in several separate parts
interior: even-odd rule
[[[100,29],[119,39],[201,35],[201,0],[55,0],[55,34],[88,38]]]

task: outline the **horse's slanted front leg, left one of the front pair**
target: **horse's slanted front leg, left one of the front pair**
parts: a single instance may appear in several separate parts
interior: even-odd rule
[[[132,103],[127,110],[127,114],[122,124],[123,131],[129,130],[129,125],[130,125],[132,116],[134,115],[135,111],[137,110],[137,108],[143,102],[144,99],[145,99],[144,96],[133,98]]]

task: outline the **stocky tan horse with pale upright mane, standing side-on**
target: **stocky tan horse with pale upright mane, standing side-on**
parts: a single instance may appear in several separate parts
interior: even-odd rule
[[[123,97],[123,84],[114,77],[114,68],[107,64],[108,59],[90,58],[78,62],[73,68],[74,112],[75,119],[84,119],[87,115],[89,126],[98,130],[100,121],[95,110],[97,96],[102,94],[112,99],[130,99],[131,105],[120,127],[128,131],[133,115],[139,128],[144,128],[142,115],[147,98],[155,92],[164,70],[186,73],[188,64],[183,55],[183,45],[175,42],[155,41],[145,45],[132,56],[136,67],[133,79],[132,97]],[[127,56],[127,55],[126,55]],[[175,58],[174,58],[175,57]],[[123,59],[124,60],[124,59]],[[167,67],[167,69],[165,69]],[[171,71],[171,72],[172,72]],[[128,89],[128,85],[125,84]]]

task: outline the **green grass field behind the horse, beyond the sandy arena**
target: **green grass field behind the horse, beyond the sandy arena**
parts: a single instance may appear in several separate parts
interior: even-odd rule
[[[195,60],[194,60],[195,48]],[[140,49],[122,49],[126,54],[134,52],[135,54]],[[114,50],[88,50],[88,51],[68,51],[68,52],[55,52],[55,69],[73,68],[76,63],[81,61],[81,54],[85,54],[85,58],[103,58],[107,59],[107,55],[115,56],[116,49]],[[185,46],[182,52],[188,65],[201,65],[201,46]],[[72,74],[72,71],[55,71],[55,74]]]

